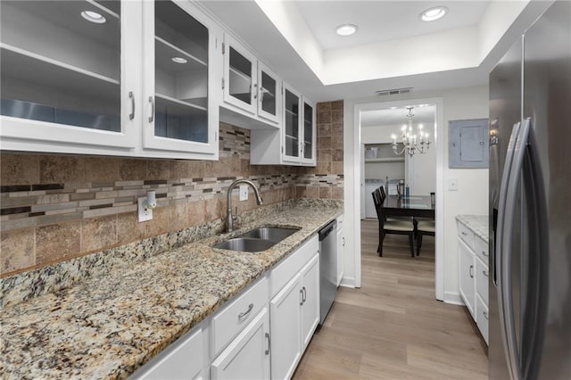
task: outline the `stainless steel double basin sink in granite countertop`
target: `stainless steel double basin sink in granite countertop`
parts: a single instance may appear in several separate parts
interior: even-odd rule
[[[294,235],[300,228],[259,227],[243,235],[228,239],[212,247],[229,251],[261,252],[278,244],[289,235]]]

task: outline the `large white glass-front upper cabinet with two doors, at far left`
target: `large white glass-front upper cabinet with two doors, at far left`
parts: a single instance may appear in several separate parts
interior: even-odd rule
[[[218,158],[216,37],[192,4],[0,6],[3,149]]]

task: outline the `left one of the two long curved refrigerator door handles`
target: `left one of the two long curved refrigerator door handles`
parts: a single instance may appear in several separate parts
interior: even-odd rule
[[[517,122],[514,124],[513,128],[511,129],[511,135],[509,136],[509,143],[508,143],[508,150],[506,153],[506,161],[504,161],[503,170],[501,174],[501,185],[500,185],[500,199],[498,200],[498,227],[497,227],[497,236],[496,239],[496,247],[495,247],[495,254],[494,254],[494,265],[496,267],[497,272],[497,284],[498,286],[498,313],[500,316],[500,326],[501,326],[501,340],[503,342],[504,353],[506,359],[508,359],[508,368],[511,375],[511,363],[512,363],[512,355],[513,351],[511,349],[507,329],[508,329],[508,321],[506,320],[506,308],[505,308],[505,300],[503,296],[503,288],[505,287],[505,277],[503,276],[502,270],[502,257],[504,256],[503,252],[503,244],[502,240],[506,235],[504,233],[504,224],[506,220],[506,200],[508,194],[508,187],[509,187],[509,177],[511,174],[511,167],[514,160],[514,153],[516,151],[516,144],[517,144],[517,137],[519,136],[519,130],[521,128],[521,122]],[[511,378],[514,378],[511,375]]]

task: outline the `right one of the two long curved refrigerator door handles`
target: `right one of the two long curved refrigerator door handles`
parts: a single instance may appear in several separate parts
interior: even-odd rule
[[[522,368],[519,350],[517,348],[516,338],[516,322],[513,309],[513,288],[510,280],[512,269],[512,239],[514,228],[513,215],[516,211],[517,187],[521,179],[521,172],[524,166],[525,149],[529,137],[530,120],[525,119],[519,129],[519,133],[514,147],[513,161],[511,164],[511,172],[509,174],[509,183],[506,190],[506,202],[504,209],[504,218],[502,220],[501,235],[501,299],[504,302],[504,320],[506,329],[504,331],[505,342],[508,343],[509,351],[509,368],[512,379],[521,379]]]

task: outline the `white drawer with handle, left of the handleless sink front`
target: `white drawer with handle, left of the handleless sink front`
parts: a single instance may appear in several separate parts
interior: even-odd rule
[[[211,342],[214,357],[266,306],[268,299],[268,280],[263,277],[212,317]]]

